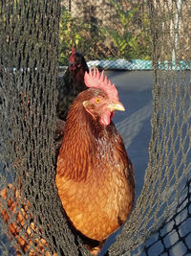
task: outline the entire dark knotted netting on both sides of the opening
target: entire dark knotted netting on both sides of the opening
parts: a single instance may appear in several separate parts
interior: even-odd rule
[[[191,5],[144,3],[154,69],[149,161],[130,220],[107,253],[188,255]],[[0,13],[0,254],[88,255],[54,184],[60,1],[3,0]]]

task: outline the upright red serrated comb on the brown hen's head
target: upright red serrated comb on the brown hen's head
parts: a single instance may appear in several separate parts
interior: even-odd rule
[[[110,99],[118,101],[117,88],[106,76],[104,77],[104,70],[101,72],[100,76],[97,68],[94,68],[93,71],[90,70],[89,73],[86,72],[84,81],[87,87],[102,89]]]

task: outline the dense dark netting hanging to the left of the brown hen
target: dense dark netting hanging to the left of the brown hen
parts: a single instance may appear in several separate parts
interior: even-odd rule
[[[60,3],[1,1],[0,12],[0,254],[77,255],[54,185]]]

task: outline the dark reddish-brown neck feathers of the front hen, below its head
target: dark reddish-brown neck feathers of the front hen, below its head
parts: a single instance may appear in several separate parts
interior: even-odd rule
[[[82,104],[74,102],[69,111],[65,135],[59,151],[57,174],[76,181],[86,180],[112,156],[117,130],[114,124],[103,127],[93,120]],[[99,168],[100,166],[100,168]]]

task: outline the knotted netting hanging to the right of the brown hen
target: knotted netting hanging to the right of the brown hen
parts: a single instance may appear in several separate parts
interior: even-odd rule
[[[111,255],[188,255],[191,77],[180,59],[190,67],[191,6],[189,1],[181,6],[180,1],[147,2],[154,66],[149,162],[136,208],[110,251]]]

